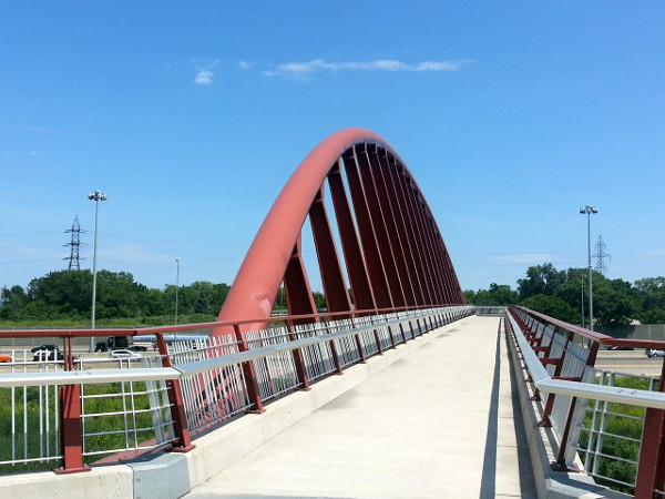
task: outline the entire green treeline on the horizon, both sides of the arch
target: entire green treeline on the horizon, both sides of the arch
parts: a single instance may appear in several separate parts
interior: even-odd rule
[[[557,271],[551,263],[529,267],[518,279],[518,289],[492,283],[489,289],[466,291],[467,303],[474,305],[524,305],[572,324],[582,324],[582,299],[587,317],[589,271]],[[182,322],[213,320],[231,286],[197,281],[178,288],[178,316]],[[315,292],[318,308],[325,308],[323,293]],[[27,288],[0,289],[0,322],[17,324],[66,323],[85,325],[92,307],[92,273],[60,271],[34,278]],[[597,326],[665,323],[665,277],[648,277],[631,284],[593,273],[593,306]],[[284,291],[275,308],[285,308]],[[149,288],[132,274],[98,272],[96,319],[131,319],[124,324],[168,324],[175,316],[175,286]]]

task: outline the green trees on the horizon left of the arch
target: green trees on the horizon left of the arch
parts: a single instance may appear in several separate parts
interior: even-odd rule
[[[209,316],[219,313],[231,286],[197,281],[177,289],[178,316]],[[44,324],[66,320],[72,324],[90,320],[92,308],[92,273],[60,271],[30,281],[28,287],[2,287],[0,320]],[[136,283],[126,272],[98,272],[95,316],[104,319],[175,316],[175,286],[164,289],[149,288]],[[160,323],[160,320],[147,320]]]

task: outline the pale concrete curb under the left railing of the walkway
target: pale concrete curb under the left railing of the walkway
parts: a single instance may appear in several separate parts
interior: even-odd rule
[[[82,473],[57,476],[41,471],[4,476],[0,477],[2,495],[74,499],[182,497],[268,439],[466,320],[467,317],[410,339],[396,349],[385,350],[383,355],[357,364],[342,375],[332,375],[314,384],[309,391],[296,391],[269,404],[264,414],[246,415],[196,438],[196,448],[187,454],[165,454],[146,461],[99,466]]]

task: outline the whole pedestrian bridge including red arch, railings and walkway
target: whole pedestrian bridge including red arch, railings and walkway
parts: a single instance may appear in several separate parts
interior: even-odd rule
[[[288,315],[272,317],[280,289]],[[111,335],[157,352],[76,352]],[[413,175],[366,130],[298,166],[216,322],[8,338],[63,354],[0,366],[9,497],[665,493],[663,371],[595,368],[602,346],[663,344],[467,305]]]

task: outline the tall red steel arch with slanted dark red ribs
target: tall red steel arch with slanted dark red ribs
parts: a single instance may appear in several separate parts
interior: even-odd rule
[[[346,273],[324,203],[326,182]],[[466,303],[439,227],[406,163],[376,133],[346,129],[317,145],[279,193],[219,320],[269,317],[283,282],[289,314],[316,313],[300,254],[307,215],[329,312]]]

